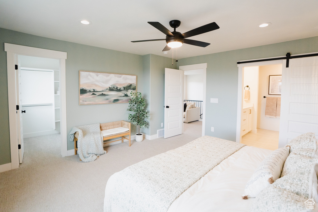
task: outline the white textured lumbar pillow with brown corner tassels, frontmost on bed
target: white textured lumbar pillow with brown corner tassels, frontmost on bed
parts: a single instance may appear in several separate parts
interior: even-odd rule
[[[262,161],[251,179],[247,182],[243,199],[256,197],[264,188],[280,178],[285,160],[289,155],[289,146],[273,151]]]

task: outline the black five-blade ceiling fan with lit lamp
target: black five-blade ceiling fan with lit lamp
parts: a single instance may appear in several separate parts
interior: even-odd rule
[[[156,40],[165,40],[167,42],[167,46],[164,47],[162,52],[169,51],[171,48],[176,48],[182,46],[183,43],[194,45],[194,46],[201,46],[206,47],[209,46],[209,43],[205,43],[198,40],[190,40],[186,39],[195,35],[203,34],[205,32],[210,32],[216,29],[219,29],[220,27],[215,23],[212,22],[210,24],[206,24],[204,26],[200,26],[198,28],[195,28],[193,30],[190,30],[188,32],[184,32],[181,34],[180,32],[176,32],[176,28],[180,26],[181,22],[179,20],[172,20],[169,22],[169,25],[174,28],[173,32],[170,32],[166,27],[164,27],[159,22],[148,22],[148,24],[154,26],[161,32],[163,32],[166,35],[166,39],[153,39],[153,40],[135,40],[131,41],[133,43],[135,42],[144,42],[144,41],[156,41]]]

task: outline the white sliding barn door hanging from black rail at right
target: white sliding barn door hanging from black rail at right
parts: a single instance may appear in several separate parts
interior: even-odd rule
[[[318,57],[283,62],[279,147],[306,132],[318,134]]]

